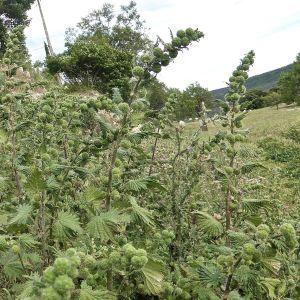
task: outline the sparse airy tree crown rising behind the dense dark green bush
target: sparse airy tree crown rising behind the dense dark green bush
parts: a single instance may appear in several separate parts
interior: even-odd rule
[[[127,6],[122,5],[117,15],[114,13],[114,6],[105,3],[101,9],[84,17],[75,28],[68,29],[67,41],[72,43],[80,37],[100,35],[112,47],[136,55],[151,44],[144,24],[134,1]]]

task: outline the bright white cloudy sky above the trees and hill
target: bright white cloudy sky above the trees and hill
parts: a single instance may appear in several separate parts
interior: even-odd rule
[[[116,12],[129,0],[41,0],[56,53],[64,50],[65,31],[103,3]],[[295,60],[300,52],[300,0],[136,0],[149,35],[164,40],[187,27],[203,31],[205,38],[181,53],[159,79],[169,87],[184,89],[198,81],[209,90],[225,86],[240,58],[256,53],[250,75],[261,74]],[[33,60],[44,58],[45,40],[35,3],[29,12],[27,45]]]

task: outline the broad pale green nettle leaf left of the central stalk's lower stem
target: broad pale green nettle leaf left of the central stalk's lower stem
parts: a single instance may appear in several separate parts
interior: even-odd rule
[[[87,224],[88,233],[101,241],[114,240],[114,235],[122,231],[122,225],[130,222],[130,217],[117,210],[100,213]]]

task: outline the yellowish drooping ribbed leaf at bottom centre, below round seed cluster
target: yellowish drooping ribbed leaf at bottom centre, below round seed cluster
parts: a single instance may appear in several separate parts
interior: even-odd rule
[[[148,294],[159,295],[163,291],[164,265],[149,259],[148,263],[142,268],[145,287]]]

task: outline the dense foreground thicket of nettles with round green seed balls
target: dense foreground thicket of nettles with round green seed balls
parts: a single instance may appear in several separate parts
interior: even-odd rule
[[[176,93],[147,113],[144,83],[202,37],[179,30],[137,56],[125,98],[117,85],[111,97],[88,97],[25,76],[11,33],[1,64],[0,298],[299,298],[299,206],[284,210],[276,186],[257,188],[264,168],[244,146],[239,101],[254,52],[230,77],[218,120],[201,103],[205,126],[219,128],[212,138],[174,121]]]

